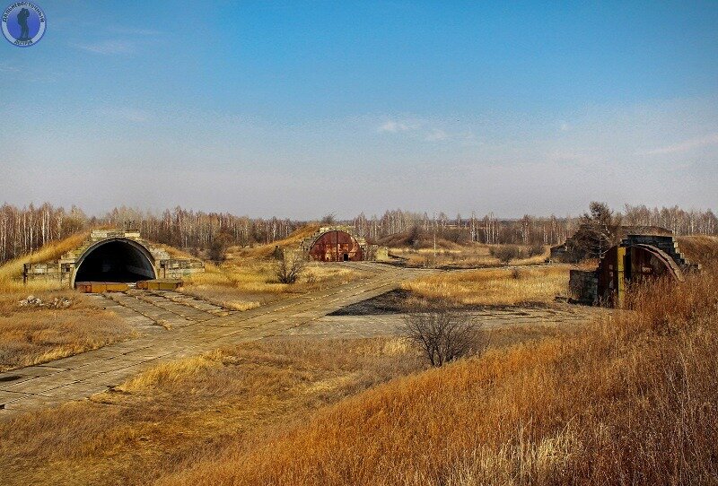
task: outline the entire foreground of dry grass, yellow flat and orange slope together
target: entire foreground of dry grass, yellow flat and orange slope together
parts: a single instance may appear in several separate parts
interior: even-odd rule
[[[0,424],[7,484],[710,484],[718,282],[425,369],[396,339],[173,361]],[[509,347],[502,347],[502,346]]]

